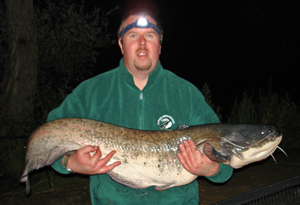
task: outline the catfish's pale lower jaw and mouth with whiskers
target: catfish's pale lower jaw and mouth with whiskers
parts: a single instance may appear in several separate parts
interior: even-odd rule
[[[221,144],[226,155],[230,156],[229,165],[235,169],[261,161],[272,155],[282,140],[282,134],[273,132],[248,146],[241,146],[222,138]],[[282,150],[281,148],[279,148]],[[283,151],[283,150],[282,150]],[[283,151],[284,152],[284,151]]]

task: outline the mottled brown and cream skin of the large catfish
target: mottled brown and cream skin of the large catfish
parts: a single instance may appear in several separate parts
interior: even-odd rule
[[[92,145],[99,146],[103,157],[112,150],[117,151],[109,164],[121,161],[121,165],[108,174],[122,184],[133,188],[155,186],[156,190],[181,186],[192,182],[197,176],[187,172],[179,162],[177,158],[177,153],[180,151],[179,144],[183,140],[192,139],[199,150],[210,159],[231,165],[231,159],[236,152],[234,145],[239,141],[242,142],[240,144],[244,143],[242,137],[236,137],[236,130],[241,129],[240,126],[246,126],[243,130],[248,129],[253,134],[261,132],[260,126],[266,125],[247,127],[248,125],[209,124],[187,126],[185,129],[170,131],[141,131],[89,119],[59,119],[42,125],[30,136],[26,166],[20,181],[27,182],[27,193],[29,193],[29,172],[51,165],[68,152]],[[265,129],[273,133],[272,137],[258,136],[254,139],[256,137],[251,136],[246,139],[248,147],[244,144],[237,144],[237,146],[248,150],[251,145],[259,148],[259,145],[264,142],[264,144],[272,143],[268,149],[274,147],[276,149],[281,141],[281,135],[275,132],[273,126]],[[255,133],[256,135],[258,134]],[[230,140],[232,143],[228,143]],[[272,153],[273,151],[275,150],[272,150]]]

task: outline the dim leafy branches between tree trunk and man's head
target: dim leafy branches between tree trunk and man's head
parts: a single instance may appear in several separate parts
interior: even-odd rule
[[[98,8],[84,13],[84,5],[56,4],[47,1],[47,8],[37,9],[40,83],[55,86],[60,80],[68,87],[95,65],[95,48],[109,43],[108,22]],[[59,78],[49,82],[49,75]]]

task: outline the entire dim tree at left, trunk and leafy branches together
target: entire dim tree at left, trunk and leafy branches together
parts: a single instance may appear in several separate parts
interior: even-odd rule
[[[38,50],[38,54],[34,56],[29,51],[24,51],[20,53],[22,55],[20,58],[23,56],[26,58],[21,61],[6,55],[6,53],[16,55],[13,53],[15,49],[13,45],[16,45],[16,37],[13,37],[16,32],[8,30],[8,27],[15,26],[11,14],[3,15],[3,13],[9,14],[9,10],[12,13],[11,10],[16,9],[12,8],[13,4],[17,3],[19,3],[17,0],[15,2],[7,0],[7,12],[4,12],[4,5],[0,2],[0,82],[2,81],[0,103],[3,102],[0,106],[2,120],[0,136],[29,135],[37,126],[45,122],[49,111],[57,107],[76,85],[93,76],[95,74],[93,72],[99,72],[99,69],[95,69],[97,56],[100,54],[99,48],[111,46],[114,42],[107,31],[108,17],[119,9],[116,6],[109,12],[99,8],[86,11],[84,2],[75,4],[71,1],[35,1],[33,14],[35,18],[30,21],[36,22],[37,34],[32,37],[37,40],[35,42],[37,48],[34,49],[36,52]],[[20,13],[20,15],[25,14]],[[25,21],[21,22],[24,19],[14,17],[14,20],[24,25],[23,29],[28,29],[26,31],[29,32]],[[6,24],[10,25],[6,26]],[[25,36],[26,39],[30,39],[29,34]],[[31,43],[23,39],[21,42],[26,46]],[[18,45],[17,48],[25,49],[25,45]],[[35,69],[29,65],[19,65],[19,62],[28,61],[33,57],[36,61],[38,59],[37,64],[34,65]],[[19,69],[13,68],[14,64],[17,64]],[[4,70],[5,77],[2,75]],[[16,84],[21,82],[23,86]]]

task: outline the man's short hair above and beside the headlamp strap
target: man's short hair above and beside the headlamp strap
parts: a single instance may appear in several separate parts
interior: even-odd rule
[[[160,32],[160,44],[162,43],[162,39],[163,39],[162,26],[161,26],[157,16],[155,15],[155,13],[153,13],[150,10],[147,10],[147,9],[142,9],[142,10],[141,9],[133,9],[133,10],[130,10],[128,13],[126,13],[123,16],[123,18],[122,18],[123,20],[121,22],[121,25],[120,25],[118,33],[117,33],[118,39],[121,38],[121,32],[126,27],[126,20],[131,15],[151,16],[155,20],[156,27],[158,28],[158,30]]]

